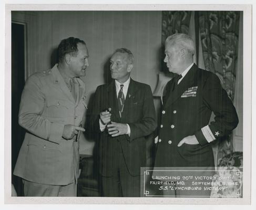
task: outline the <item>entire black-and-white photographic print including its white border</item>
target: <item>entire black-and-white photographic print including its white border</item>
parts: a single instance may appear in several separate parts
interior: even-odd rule
[[[7,203],[250,204],[251,5],[5,12]]]

